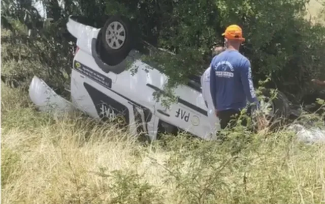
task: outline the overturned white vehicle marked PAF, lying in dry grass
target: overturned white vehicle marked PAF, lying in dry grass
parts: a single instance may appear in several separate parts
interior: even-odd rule
[[[62,111],[74,107],[102,120],[122,116],[131,133],[145,132],[150,140],[157,139],[159,132],[179,130],[215,139],[201,94],[200,77],[176,89],[179,99],[170,109],[156,102],[153,92],[163,89],[168,76],[140,60],[142,53],[132,46],[134,38],[127,19],[115,15],[102,28],[95,28],[70,16],[67,27],[77,39],[71,74],[72,103],[53,94],[44,81],[34,77],[29,96],[36,106],[46,110],[56,105]],[[138,68],[134,75],[130,69],[126,70],[130,62],[133,68]],[[272,101],[272,114],[284,117],[290,114],[289,103],[282,93]]]

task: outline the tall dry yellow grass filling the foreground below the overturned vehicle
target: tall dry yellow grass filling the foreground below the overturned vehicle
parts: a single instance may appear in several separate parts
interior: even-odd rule
[[[324,145],[285,130],[238,130],[223,144],[180,135],[145,145],[80,115],[37,112],[5,86],[1,108],[4,204],[325,201]]]

